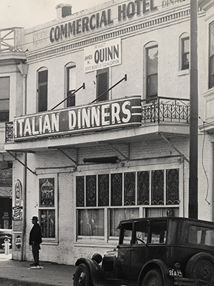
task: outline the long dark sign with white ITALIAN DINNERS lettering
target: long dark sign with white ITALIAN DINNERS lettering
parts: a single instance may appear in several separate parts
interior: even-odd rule
[[[141,124],[141,96],[14,118],[14,141]]]

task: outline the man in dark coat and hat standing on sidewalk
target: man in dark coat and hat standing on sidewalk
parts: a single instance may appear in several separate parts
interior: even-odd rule
[[[38,222],[37,217],[32,218],[33,228],[31,228],[30,237],[29,237],[29,244],[32,245],[32,253],[34,256],[34,263],[31,265],[39,267],[39,250],[40,250],[40,243],[41,240],[41,228]]]

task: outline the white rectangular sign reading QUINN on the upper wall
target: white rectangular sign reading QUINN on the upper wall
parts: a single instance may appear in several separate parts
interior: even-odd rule
[[[118,64],[121,64],[121,38],[84,48],[85,73]]]

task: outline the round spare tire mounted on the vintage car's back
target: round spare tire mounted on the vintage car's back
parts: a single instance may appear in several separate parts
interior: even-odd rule
[[[214,257],[209,253],[200,252],[193,255],[185,268],[187,278],[214,281]]]

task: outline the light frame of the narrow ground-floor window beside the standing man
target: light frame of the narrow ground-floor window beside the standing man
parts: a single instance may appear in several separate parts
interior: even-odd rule
[[[41,207],[39,197],[39,180],[46,178],[54,178],[54,207]],[[41,210],[55,210],[55,238],[42,238],[43,244],[58,244],[58,175],[56,173],[46,173],[38,175],[37,178],[37,190],[38,190],[38,217],[41,224]]]

